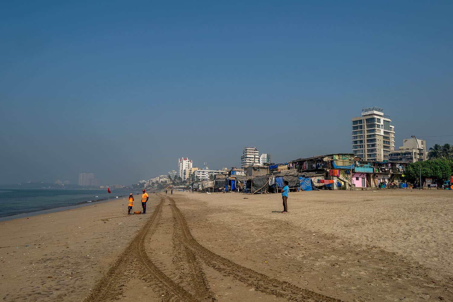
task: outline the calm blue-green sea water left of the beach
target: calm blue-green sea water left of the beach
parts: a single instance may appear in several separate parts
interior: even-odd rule
[[[107,190],[0,189],[0,217],[106,201],[129,193],[135,195],[135,191],[111,189],[109,194]]]

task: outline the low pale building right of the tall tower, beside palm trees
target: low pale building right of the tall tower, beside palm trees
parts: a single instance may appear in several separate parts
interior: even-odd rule
[[[390,152],[389,160],[400,163],[414,163],[426,160],[426,153],[426,140],[403,139],[403,145],[400,146],[400,149]]]

